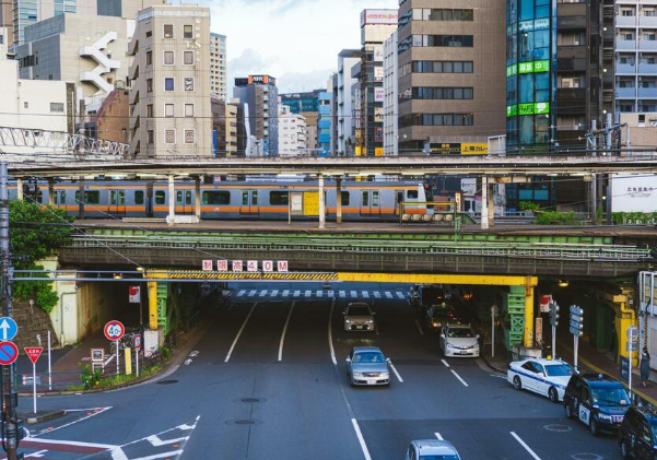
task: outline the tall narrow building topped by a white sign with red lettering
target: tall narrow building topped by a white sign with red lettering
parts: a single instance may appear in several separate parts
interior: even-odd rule
[[[356,155],[384,155],[384,42],[397,28],[397,10],[364,10],[361,13],[361,108]],[[352,73],[353,75],[353,73]]]

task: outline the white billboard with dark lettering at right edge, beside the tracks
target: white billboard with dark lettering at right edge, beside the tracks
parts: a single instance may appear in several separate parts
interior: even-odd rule
[[[657,212],[657,175],[611,176],[611,212]]]

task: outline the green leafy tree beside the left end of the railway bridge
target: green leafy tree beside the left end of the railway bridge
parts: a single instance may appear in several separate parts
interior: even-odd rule
[[[9,235],[12,263],[16,270],[43,270],[36,263],[52,255],[71,239],[72,219],[66,211],[22,200],[9,202]],[[45,274],[39,275],[47,278]],[[13,283],[13,295],[21,300],[33,298],[38,307],[50,312],[57,305],[51,283],[20,281]]]

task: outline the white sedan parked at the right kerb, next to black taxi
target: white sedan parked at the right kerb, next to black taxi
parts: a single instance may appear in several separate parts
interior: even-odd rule
[[[516,390],[529,390],[545,396],[552,402],[563,400],[573,367],[561,359],[529,358],[508,365],[506,380]]]

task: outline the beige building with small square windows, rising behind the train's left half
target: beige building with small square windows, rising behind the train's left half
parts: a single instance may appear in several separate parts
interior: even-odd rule
[[[141,10],[128,52],[132,155],[211,156],[210,10]]]

